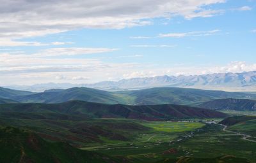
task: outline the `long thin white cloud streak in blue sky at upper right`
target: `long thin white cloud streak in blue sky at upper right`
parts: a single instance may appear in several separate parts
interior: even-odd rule
[[[215,29],[212,31],[194,31],[194,32],[182,32],[182,33],[167,33],[167,34],[159,34],[160,38],[184,38],[186,36],[211,36],[220,32],[219,29]]]

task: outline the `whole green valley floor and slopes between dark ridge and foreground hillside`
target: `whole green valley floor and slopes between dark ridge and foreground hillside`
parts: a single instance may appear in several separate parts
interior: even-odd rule
[[[79,119],[52,113],[10,114],[13,118],[2,115],[0,125],[28,129],[48,142],[67,142],[86,152],[107,155],[117,162],[244,163],[250,160],[256,163],[256,143],[223,131],[222,125],[207,124],[212,120],[219,122],[219,118],[148,122],[119,118]],[[256,121],[249,120],[228,127],[228,130],[253,135],[255,124]]]

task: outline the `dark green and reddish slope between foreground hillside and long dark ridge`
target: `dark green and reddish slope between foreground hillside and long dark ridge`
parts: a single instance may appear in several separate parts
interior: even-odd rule
[[[10,116],[10,115],[9,115]],[[92,120],[92,119],[58,119],[51,117],[28,118],[12,116],[7,118],[0,115],[0,125],[22,127],[35,131],[42,138],[51,141],[65,141],[74,146],[88,146],[111,141],[129,141],[140,132],[149,129],[132,120]]]

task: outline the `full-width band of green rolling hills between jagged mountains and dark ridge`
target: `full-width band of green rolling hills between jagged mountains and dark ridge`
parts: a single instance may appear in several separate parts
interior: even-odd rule
[[[27,91],[0,89],[0,97],[5,101],[17,101],[19,103],[63,103],[72,100],[87,101],[105,104],[182,104],[193,105],[204,103],[214,99],[256,99],[256,94],[243,92],[224,92],[217,90],[199,90],[183,88],[153,88],[143,90],[126,90],[108,92],[90,88],[71,88],[65,90],[46,90],[34,93]]]

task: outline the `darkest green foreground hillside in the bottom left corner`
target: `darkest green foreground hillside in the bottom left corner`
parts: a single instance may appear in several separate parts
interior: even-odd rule
[[[115,162],[106,155],[78,150],[67,143],[50,143],[33,132],[5,127],[0,129],[0,162]]]

